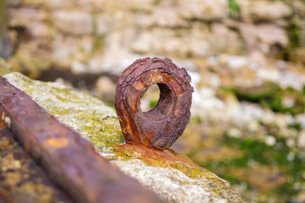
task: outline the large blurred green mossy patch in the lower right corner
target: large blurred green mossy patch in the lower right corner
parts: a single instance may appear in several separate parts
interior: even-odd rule
[[[219,161],[217,162],[217,165],[210,162],[208,164],[202,164],[201,166],[215,171],[217,175],[228,180],[231,184],[239,185],[241,183],[247,183],[249,188],[255,190],[255,187],[261,187],[258,185],[251,185],[253,179],[252,181],[249,181],[248,177],[255,175],[251,172],[251,168],[253,167],[249,166],[249,161],[251,161],[256,163],[254,168],[269,168],[269,170],[266,170],[265,172],[261,171],[262,176],[269,176],[269,174],[266,173],[269,173],[270,171],[279,171],[278,177],[285,177],[285,179],[294,180],[282,183],[277,183],[272,180],[274,184],[273,188],[266,191],[257,191],[259,197],[264,194],[269,197],[275,197],[279,202],[284,203],[287,198],[300,193],[300,188],[295,188],[294,183],[296,181],[304,183],[305,181],[304,177],[300,175],[300,171],[304,171],[305,168],[305,163],[302,161],[304,160],[304,155],[297,152],[297,147],[288,147],[285,138],[276,137],[274,146],[267,145],[265,139],[262,140],[255,137],[234,138],[225,135],[224,139],[220,139],[219,141],[219,144],[222,146],[237,145],[237,150],[244,151],[245,153],[242,157],[237,159]],[[287,159],[289,154],[290,156],[293,154],[294,158]],[[261,184],[264,185],[265,183],[266,182]],[[250,202],[248,193],[244,193],[244,195],[245,196],[242,198],[244,198],[245,201]]]

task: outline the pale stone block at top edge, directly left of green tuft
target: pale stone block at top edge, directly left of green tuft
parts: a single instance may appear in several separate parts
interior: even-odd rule
[[[229,13],[227,0],[179,0],[178,4],[185,19],[217,20]]]

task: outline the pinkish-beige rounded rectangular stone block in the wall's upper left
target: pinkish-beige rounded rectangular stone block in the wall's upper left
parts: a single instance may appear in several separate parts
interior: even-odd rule
[[[89,35],[93,32],[93,19],[83,11],[57,11],[52,14],[53,23],[65,33]]]

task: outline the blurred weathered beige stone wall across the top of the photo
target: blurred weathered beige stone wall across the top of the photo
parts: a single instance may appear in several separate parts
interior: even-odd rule
[[[305,46],[301,0],[13,0],[8,12],[11,62],[33,77],[50,67],[99,73],[133,54],[285,57]]]

